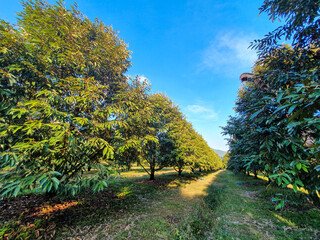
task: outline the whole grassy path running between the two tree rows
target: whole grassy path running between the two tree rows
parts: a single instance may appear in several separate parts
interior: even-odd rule
[[[145,190],[140,194],[146,194]],[[319,209],[304,204],[302,194],[294,195],[284,210],[275,211],[271,199],[279,191],[291,194],[287,190],[266,190],[263,180],[230,171],[200,175],[186,181],[175,178],[154,194],[144,195],[142,203],[131,211],[79,237],[319,239]],[[294,201],[300,201],[302,207],[298,209]]]

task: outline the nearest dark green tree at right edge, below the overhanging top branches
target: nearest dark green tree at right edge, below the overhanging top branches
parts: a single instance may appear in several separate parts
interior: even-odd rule
[[[317,204],[320,202],[317,193],[320,187],[319,63],[313,51],[301,50],[297,55],[297,50],[284,46],[256,74],[258,78],[268,77],[269,84],[269,94],[259,107],[270,109],[268,122],[272,128],[269,128],[268,144],[262,141],[266,166],[272,169],[272,178],[279,185],[291,183],[295,191],[297,185],[303,186]],[[277,161],[273,161],[275,157],[271,158],[270,151],[279,154]]]

